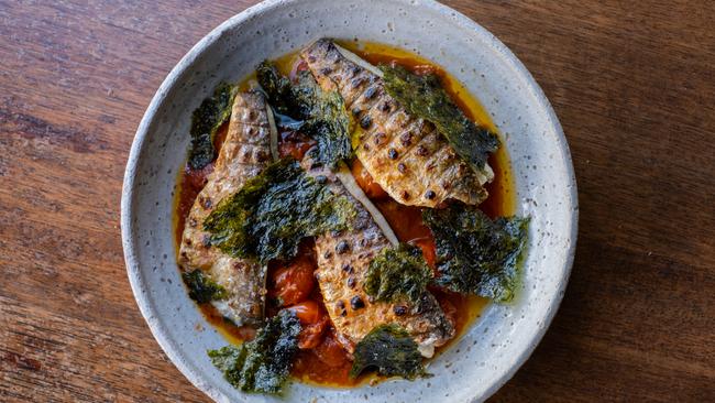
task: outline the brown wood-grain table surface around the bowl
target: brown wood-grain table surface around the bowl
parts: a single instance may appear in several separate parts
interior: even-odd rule
[[[119,202],[154,91],[252,1],[44,3],[0,0],[0,401],[206,402],[136,308]],[[493,401],[715,401],[715,4],[448,3],[543,87],[580,190],[563,304]]]

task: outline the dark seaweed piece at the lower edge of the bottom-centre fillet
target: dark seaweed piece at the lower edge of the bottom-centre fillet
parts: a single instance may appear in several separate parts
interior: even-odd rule
[[[356,378],[367,370],[383,377],[402,377],[415,380],[430,377],[422,366],[422,355],[417,342],[397,325],[381,325],[372,329],[358,346],[350,377]]]

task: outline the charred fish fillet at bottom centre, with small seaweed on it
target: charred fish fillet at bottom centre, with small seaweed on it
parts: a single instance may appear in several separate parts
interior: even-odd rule
[[[353,352],[355,344],[375,326],[397,324],[404,327],[425,357],[435,347],[454,337],[452,324],[437,298],[426,293],[418,304],[371,302],[363,291],[364,276],[373,258],[392,247],[367,210],[353,198],[329,170],[314,166],[309,157],[301,162],[309,175],[320,178],[333,194],[348,197],[358,210],[353,228],[331,231],[316,238],[318,270],[316,277],[330,319],[343,347]]]

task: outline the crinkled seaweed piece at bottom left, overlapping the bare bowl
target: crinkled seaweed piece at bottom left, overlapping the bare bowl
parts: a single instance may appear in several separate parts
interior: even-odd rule
[[[280,393],[298,351],[300,322],[282,311],[268,319],[255,339],[241,346],[209,350],[216,368],[231,385],[244,392]]]

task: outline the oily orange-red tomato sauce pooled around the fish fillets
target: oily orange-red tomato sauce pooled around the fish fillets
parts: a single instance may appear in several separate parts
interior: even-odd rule
[[[433,63],[403,50],[382,44],[365,43],[361,47],[358,47],[355,43],[341,44],[373,64],[397,63],[416,74],[435,73],[439,75],[448,94],[470,119],[496,131],[486,111],[476,99],[470,96],[465,87]],[[295,78],[297,72],[306,68],[295,53],[278,58],[276,65],[283,74],[289,75],[292,78]],[[246,87],[246,83],[241,86],[242,89]],[[315,145],[312,140],[300,132],[285,128],[278,128],[278,130],[280,156],[290,155],[300,160]],[[227,131],[228,124],[219,130],[215,141],[217,150],[220,149]],[[486,185],[490,197],[480,205],[480,208],[491,217],[513,215],[515,213],[514,181],[504,146],[490,157],[490,165],[494,170],[495,178]],[[175,202],[177,250],[186,217],[212,168],[213,166],[209,165],[200,171],[193,171],[187,166],[179,173],[179,188]],[[419,247],[427,263],[435,269],[435,239],[430,230],[422,224],[421,208],[403,206],[393,200],[373,181],[359,161],[355,160],[352,163],[351,170],[358,184],[385,216],[397,238],[402,242]],[[361,377],[353,380],[349,377],[352,366],[351,358],[337,340],[336,331],[314,276],[314,272],[317,270],[314,246],[312,240],[306,240],[301,242],[298,255],[292,261],[268,263],[266,315],[270,317],[276,315],[280,309],[289,309],[296,313],[302,325],[302,331],[298,336],[300,349],[292,371],[294,378],[312,384],[353,386],[369,378]],[[485,298],[461,295],[439,287],[430,287],[430,291],[439,301],[446,315],[455,324],[457,337],[453,340],[459,339],[479,317],[487,303]],[[207,320],[231,342],[251,340],[255,336],[255,329],[234,326],[210,304],[201,305],[201,311]],[[438,353],[448,347],[449,344],[438,348]]]

